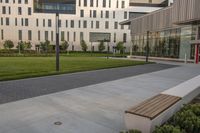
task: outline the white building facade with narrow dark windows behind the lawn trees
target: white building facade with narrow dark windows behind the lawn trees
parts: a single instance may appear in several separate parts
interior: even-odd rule
[[[119,41],[124,42],[128,51],[130,30],[119,22],[128,20],[131,13],[160,9],[162,5],[158,3],[163,0],[155,1],[134,5],[134,0],[0,0],[0,48],[5,40],[12,40],[15,47],[20,41],[31,42],[32,49],[45,40],[55,44],[53,11],[58,9],[60,42],[68,41],[69,50],[81,50],[80,41],[85,40],[89,50],[97,51],[99,42],[91,42],[91,35],[107,34],[111,51]]]

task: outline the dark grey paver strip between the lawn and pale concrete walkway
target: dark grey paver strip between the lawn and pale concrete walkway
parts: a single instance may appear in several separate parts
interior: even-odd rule
[[[148,64],[0,82],[0,104],[176,67]]]

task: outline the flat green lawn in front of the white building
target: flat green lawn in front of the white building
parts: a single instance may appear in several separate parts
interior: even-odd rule
[[[145,62],[61,56],[57,73],[55,57],[0,57],[0,81],[142,64]]]

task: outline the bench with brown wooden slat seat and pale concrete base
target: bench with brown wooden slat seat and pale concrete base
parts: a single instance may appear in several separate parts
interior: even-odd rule
[[[125,123],[127,128],[138,129],[143,133],[152,132],[155,125],[160,125],[171,117],[171,111],[167,110],[180,100],[181,98],[177,96],[159,94],[130,108],[125,111]],[[163,115],[165,117],[162,117]]]

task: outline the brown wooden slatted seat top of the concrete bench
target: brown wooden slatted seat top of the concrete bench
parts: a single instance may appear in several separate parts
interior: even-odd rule
[[[180,97],[159,94],[125,112],[154,119],[179,100],[181,100]]]

